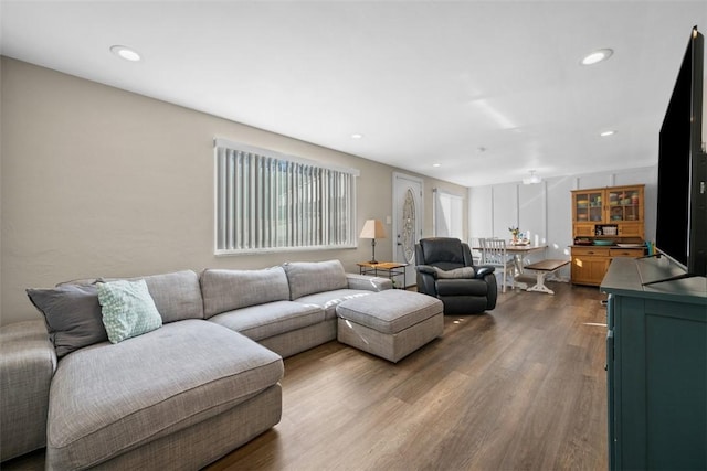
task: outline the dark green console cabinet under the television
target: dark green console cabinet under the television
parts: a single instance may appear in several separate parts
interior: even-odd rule
[[[707,469],[707,279],[666,258],[614,258],[606,371],[612,470]]]

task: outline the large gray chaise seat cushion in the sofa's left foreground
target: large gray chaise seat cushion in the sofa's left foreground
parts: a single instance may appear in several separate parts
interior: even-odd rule
[[[228,410],[282,376],[279,355],[203,320],[81,349],[54,374],[48,462],[98,464]]]

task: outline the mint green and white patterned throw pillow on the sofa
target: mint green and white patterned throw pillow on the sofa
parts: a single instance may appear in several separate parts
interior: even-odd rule
[[[112,343],[123,342],[162,325],[145,280],[97,283],[103,324]]]

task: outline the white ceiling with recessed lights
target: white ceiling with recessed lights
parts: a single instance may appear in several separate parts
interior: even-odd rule
[[[655,164],[707,31],[701,0],[0,6],[3,55],[465,186]]]

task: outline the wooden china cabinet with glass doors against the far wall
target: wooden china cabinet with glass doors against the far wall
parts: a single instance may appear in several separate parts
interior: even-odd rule
[[[572,191],[572,283],[599,286],[615,257],[641,257],[645,185]]]

